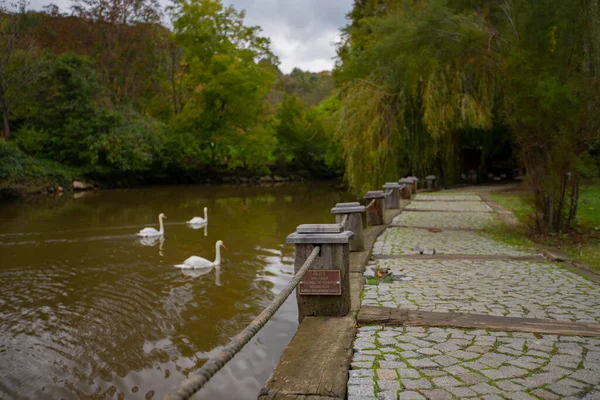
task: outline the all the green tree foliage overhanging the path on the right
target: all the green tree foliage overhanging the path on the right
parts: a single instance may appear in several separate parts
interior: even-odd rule
[[[452,183],[461,152],[482,170],[511,133],[538,229],[571,225],[600,139],[597,2],[364,0],[349,16],[336,77],[352,187],[399,165]]]

